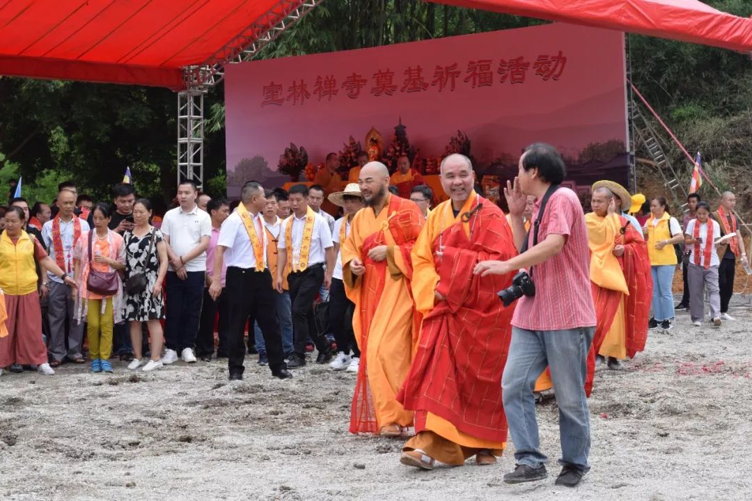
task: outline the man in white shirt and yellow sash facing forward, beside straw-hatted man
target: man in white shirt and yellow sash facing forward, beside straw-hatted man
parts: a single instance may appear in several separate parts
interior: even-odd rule
[[[293,303],[293,330],[295,331],[295,354],[287,367],[296,369],[305,366],[305,343],[308,340],[308,320],[313,315],[311,306],[321,285],[329,289],[335,267],[334,243],[329,225],[319,214],[308,207],[308,187],[295,185],[290,188],[290,207],[293,213],[284,220],[277,254],[276,288],[282,292],[282,276],[290,268],[287,283],[290,285],[290,300]],[[288,237],[288,233],[290,236]],[[291,240],[288,242],[287,240]],[[290,258],[288,259],[288,256]],[[326,264],[326,271],[324,265]],[[263,326],[261,327],[263,330]],[[312,336],[319,355],[317,364],[332,359],[332,352],[325,336]]]

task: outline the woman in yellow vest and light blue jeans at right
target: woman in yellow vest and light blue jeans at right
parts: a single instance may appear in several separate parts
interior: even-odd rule
[[[684,240],[681,226],[668,212],[666,198],[650,201],[650,217],[642,232],[647,240],[650,270],[653,273],[653,318],[650,329],[671,330],[674,320],[674,271],[678,260],[674,245]]]

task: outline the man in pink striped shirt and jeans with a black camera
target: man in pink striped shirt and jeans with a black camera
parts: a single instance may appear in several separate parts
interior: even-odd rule
[[[475,273],[483,275],[526,268],[535,282],[534,295],[517,301],[502,377],[504,409],[517,465],[504,481],[519,484],[547,476],[544,463],[548,459],[540,450],[532,391],[535,380],[549,367],[559,406],[562,447],[562,471],[556,484],[575,487],[590,469],[590,418],[584,385],[596,312],[590,294],[587,228],[575,192],[555,188],[564,180],[566,166],[553,146],[528,146],[519,168],[514,185],[507,183],[505,196],[517,248],[522,248],[527,238],[529,250],[509,261],[482,261],[475,268]],[[552,193],[543,207],[538,243],[534,245],[536,225],[526,237],[523,223],[526,196],[533,195],[538,201],[532,216],[537,221],[549,189]]]

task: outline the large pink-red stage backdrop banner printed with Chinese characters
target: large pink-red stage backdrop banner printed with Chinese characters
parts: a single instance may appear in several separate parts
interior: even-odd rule
[[[556,23],[228,65],[228,195],[289,181],[277,166],[290,143],[320,164],[350,136],[365,149],[373,127],[386,152],[399,123],[422,158],[462,131],[481,176],[514,176],[521,149],[543,141],[583,196],[601,178],[626,185],[624,61],[623,33]]]

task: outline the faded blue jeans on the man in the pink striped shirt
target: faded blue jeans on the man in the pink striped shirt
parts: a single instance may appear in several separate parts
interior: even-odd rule
[[[556,405],[559,406],[561,464],[587,472],[590,454],[590,415],[585,397],[587,354],[595,327],[569,330],[525,330],[512,328],[509,356],[502,376],[502,395],[509,432],[514,443],[514,460],[538,468],[548,458],[540,450],[538,421],[535,420],[535,380],[550,368]]]

